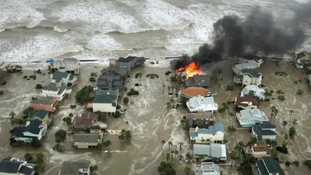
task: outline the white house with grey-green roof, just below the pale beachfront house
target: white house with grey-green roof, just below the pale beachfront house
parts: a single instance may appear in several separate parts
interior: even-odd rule
[[[56,87],[61,87],[61,85],[65,85],[67,87],[72,87],[78,81],[77,76],[74,76],[70,73],[55,71],[50,74],[50,82],[55,83]]]

